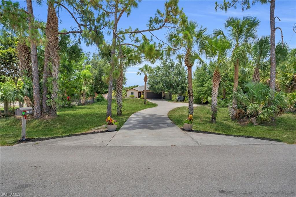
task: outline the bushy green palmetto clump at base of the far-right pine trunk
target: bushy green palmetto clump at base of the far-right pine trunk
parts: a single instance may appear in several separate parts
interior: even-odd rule
[[[256,125],[281,115],[287,106],[286,97],[283,92],[275,93],[274,97],[273,93],[268,85],[262,83],[245,84],[244,90],[239,89],[235,93],[241,117],[247,116]]]

